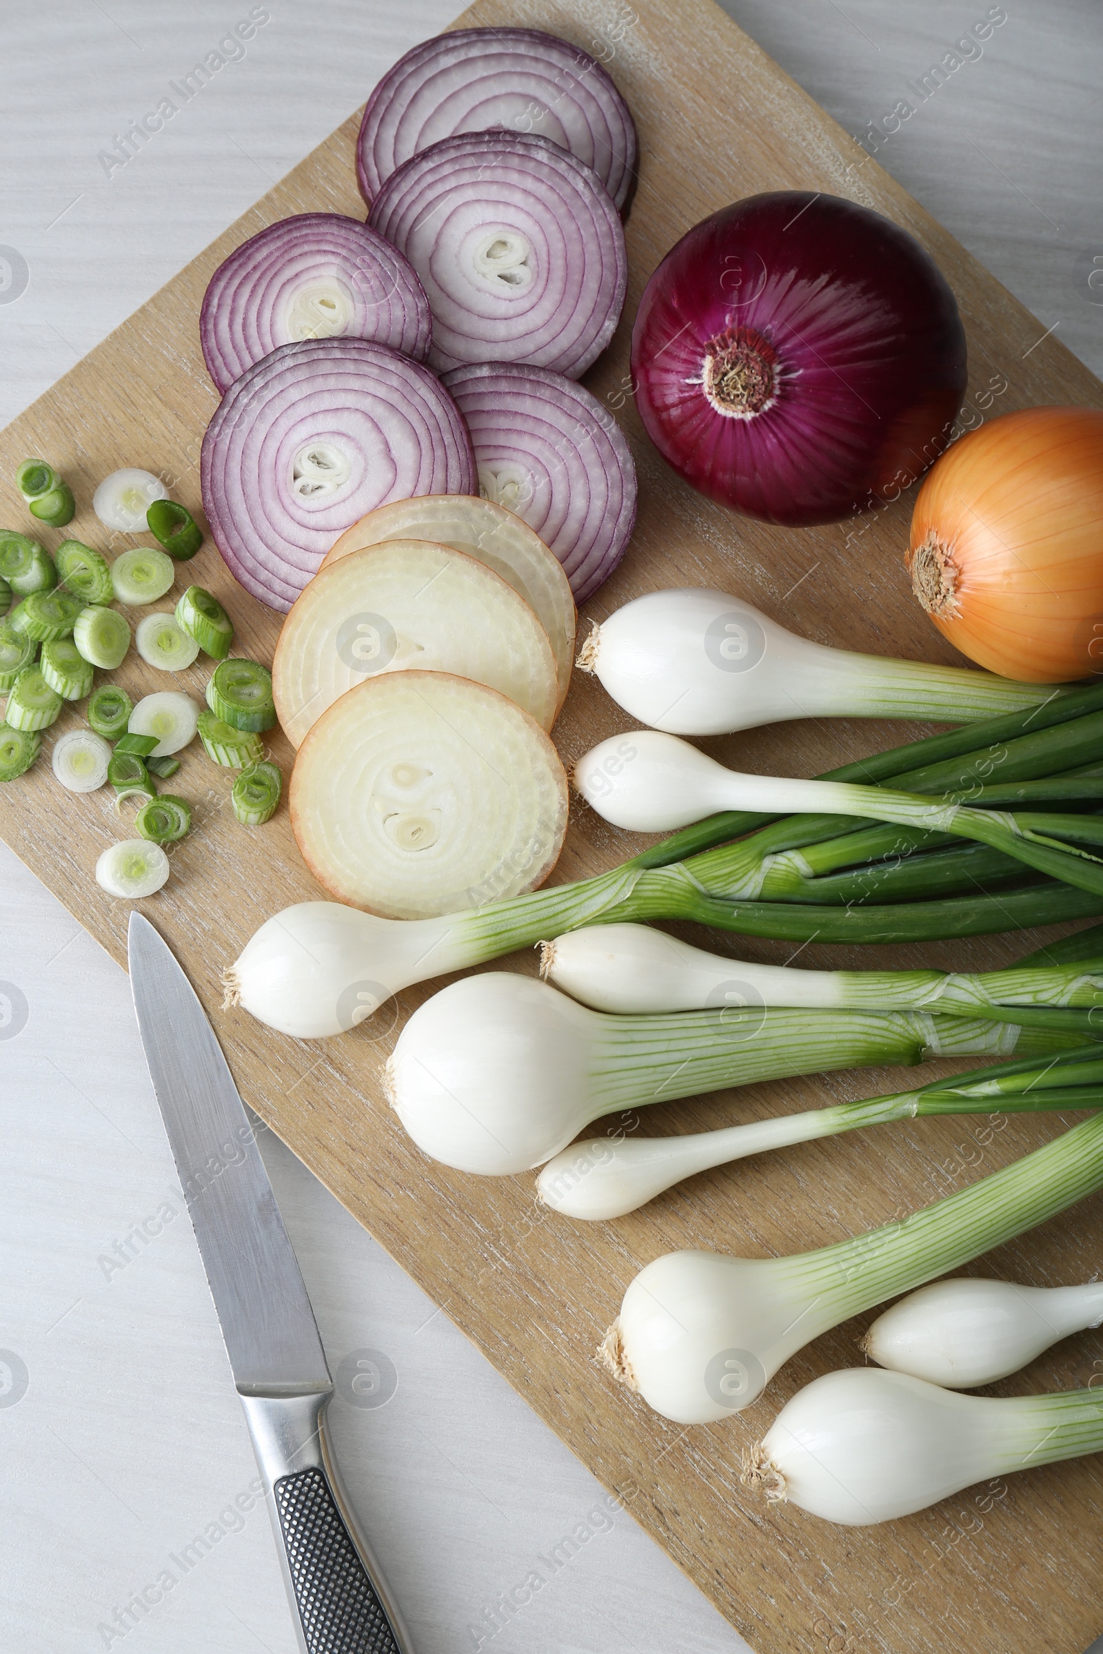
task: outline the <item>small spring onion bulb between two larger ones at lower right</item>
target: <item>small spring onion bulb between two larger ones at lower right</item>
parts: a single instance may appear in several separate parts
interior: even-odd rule
[[[1103,1282],[1024,1287],[1014,1280],[934,1280],[870,1327],[863,1353],[895,1373],[977,1389],[1034,1361],[1058,1338],[1103,1323]]]

